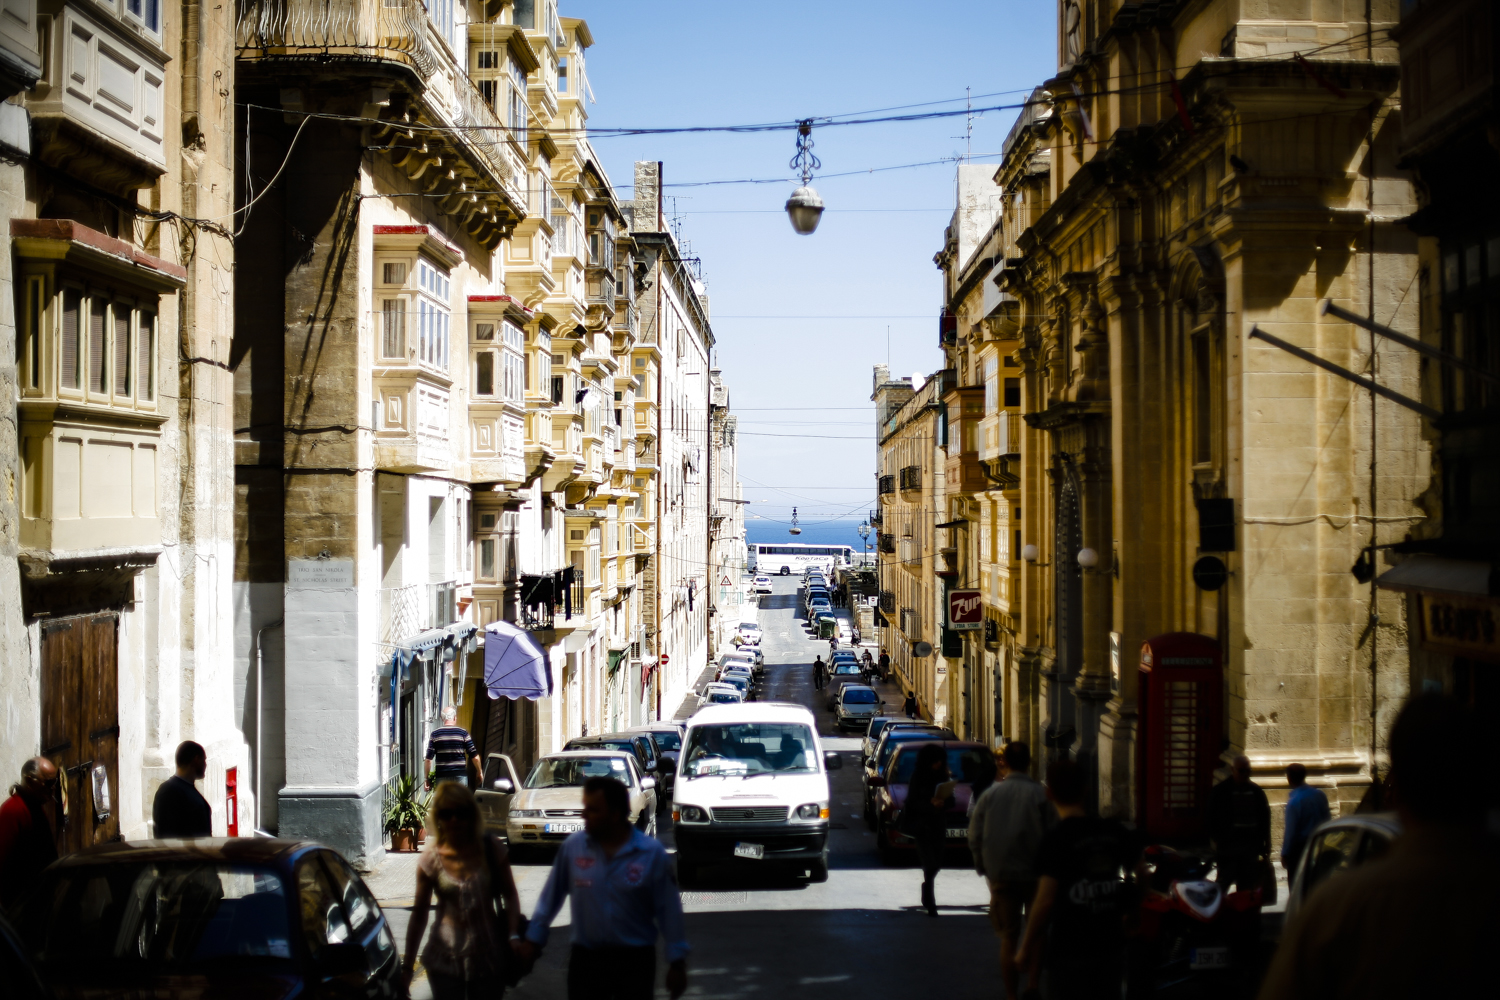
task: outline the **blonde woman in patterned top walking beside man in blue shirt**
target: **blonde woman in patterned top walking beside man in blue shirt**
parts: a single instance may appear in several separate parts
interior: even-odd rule
[[[436,925],[422,952],[434,1000],[498,1000],[519,963],[513,952],[522,919],[506,846],[484,832],[474,793],[456,781],[432,793],[428,829],[432,837],[417,859],[417,898],[406,927],[405,982],[411,985],[436,897]]]

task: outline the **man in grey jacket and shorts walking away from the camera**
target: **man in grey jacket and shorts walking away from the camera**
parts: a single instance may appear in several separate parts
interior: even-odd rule
[[[969,810],[974,870],[990,886],[990,927],[1000,939],[1000,981],[1006,997],[1018,997],[1023,966],[1016,958],[1022,916],[1036,895],[1041,841],[1058,820],[1047,793],[1030,777],[1030,747],[1018,739],[1000,753],[1004,777]],[[1028,990],[1036,988],[1036,963],[1024,967]]]

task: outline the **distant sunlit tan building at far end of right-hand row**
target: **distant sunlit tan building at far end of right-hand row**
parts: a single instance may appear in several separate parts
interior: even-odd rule
[[[886,366],[876,364],[870,396],[880,504],[873,525],[879,531],[876,625],[903,691],[914,693],[922,715],[940,724],[952,724],[962,712],[962,693],[951,684],[942,655],[950,562],[939,549],[948,547],[952,528],[938,526],[944,523],[946,475],[942,400],[951,378],[944,370],[914,385],[912,378],[891,379]]]

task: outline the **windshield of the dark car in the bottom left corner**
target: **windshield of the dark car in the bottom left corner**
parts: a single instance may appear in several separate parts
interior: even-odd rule
[[[44,967],[154,973],[290,960],[286,888],[267,868],[141,862],[54,868],[15,921]]]

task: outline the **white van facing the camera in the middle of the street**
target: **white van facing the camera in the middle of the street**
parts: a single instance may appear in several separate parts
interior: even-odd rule
[[[705,865],[770,862],[826,882],[828,772],[842,766],[801,705],[700,708],[687,720],[672,796],[678,880]]]

